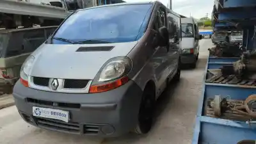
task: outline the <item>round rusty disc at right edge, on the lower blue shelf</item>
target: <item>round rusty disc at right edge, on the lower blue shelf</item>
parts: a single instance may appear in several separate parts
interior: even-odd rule
[[[256,118],[256,95],[247,97],[244,101],[244,106],[249,115]]]

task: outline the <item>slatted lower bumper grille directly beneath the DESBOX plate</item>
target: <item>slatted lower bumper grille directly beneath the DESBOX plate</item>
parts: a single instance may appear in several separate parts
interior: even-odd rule
[[[35,118],[36,124],[39,127],[45,129],[54,129],[58,131],[70,132],[74,134],[80,133],[80,127],[78,123],[74,122],[61,122],[60,120],[53,120],[49,118]]]

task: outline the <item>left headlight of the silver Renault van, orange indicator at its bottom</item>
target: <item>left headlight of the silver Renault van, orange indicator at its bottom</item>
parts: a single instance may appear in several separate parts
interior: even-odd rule
[[[33,65],[33,62],[35,60],[35,57],[30,55],[28,58],[24,61],[20,68],[20,82],[24,86],[28,86],[28,75],[31,71],[31,67]]]

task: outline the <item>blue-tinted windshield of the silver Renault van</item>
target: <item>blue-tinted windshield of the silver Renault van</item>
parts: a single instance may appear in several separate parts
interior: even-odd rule
[[[124,4],[80,10],[60,26],[52,44],[99,44],[138,40],[147,28],[152,4]]]

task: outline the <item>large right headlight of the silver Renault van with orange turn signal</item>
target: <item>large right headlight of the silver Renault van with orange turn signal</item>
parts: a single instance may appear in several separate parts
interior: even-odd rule
[[[132,61],[127,57],[116,57],[108,60],[93,80],[90,93],[106,92],[122,86],[129,81]]]

